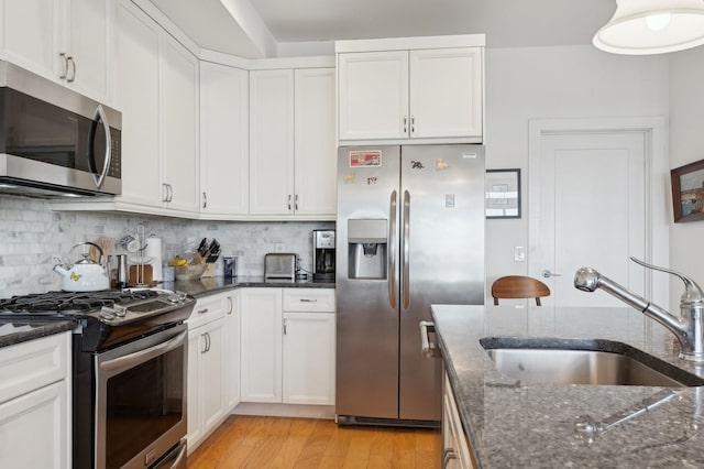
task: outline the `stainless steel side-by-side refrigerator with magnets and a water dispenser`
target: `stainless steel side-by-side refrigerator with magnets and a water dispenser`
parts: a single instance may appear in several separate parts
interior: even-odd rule
[[[484,303],[484,146],[338,154],[340,424],[433,425],[441,360],[420,351],[431,304]]]

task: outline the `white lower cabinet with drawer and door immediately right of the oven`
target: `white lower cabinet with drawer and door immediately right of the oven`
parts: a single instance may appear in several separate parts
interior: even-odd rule
[[[226,416],[226,296],[199,298],[188,319],[188,452]]]

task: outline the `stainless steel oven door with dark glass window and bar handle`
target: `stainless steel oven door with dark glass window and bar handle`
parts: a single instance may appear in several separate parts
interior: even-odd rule
[[[95,467],[144,468],[186,436],[187,329],[97,353]]]

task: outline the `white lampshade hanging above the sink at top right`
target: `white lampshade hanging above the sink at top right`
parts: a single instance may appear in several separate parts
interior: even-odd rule
[[[645,55],[704,44],[704,0],[616,0],[592,41],[614,54]]]

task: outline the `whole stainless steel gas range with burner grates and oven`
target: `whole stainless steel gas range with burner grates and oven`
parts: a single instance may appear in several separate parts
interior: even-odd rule
[[[50,292],[0,315],[73,320],[73,467],[186,467],[187,328],[195,299],[165,290]]]

